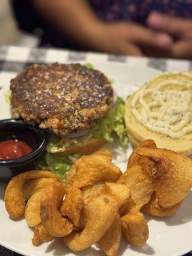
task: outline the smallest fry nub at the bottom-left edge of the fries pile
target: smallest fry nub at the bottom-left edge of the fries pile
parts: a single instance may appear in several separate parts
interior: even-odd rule
[[[35,227],[35,231],[33,233],[32,243],[35,246],[38,246],[42,242],[50,242],[54,239],[54,236],[49,235],[47,230],[44,228],[42,224]]]

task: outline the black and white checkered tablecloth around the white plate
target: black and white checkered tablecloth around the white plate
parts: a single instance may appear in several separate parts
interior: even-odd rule
[[[188,60],[147,57],[141,58],[133,56],[100,54],[95,52],[77,52],[61,49],[30,49],[27,47],[0,45],[0,90],[3,88],[3,83],[7,83],[7,77],[10,77],[10,73],[12,73],[14,77],[15,74],[31,63],[52,63],[56,61],[59,63],[70,63],[72,61],[100,61],[110,63],[111,61],[116,61],[120,63],[128,63],[134,67],[156,68],[164,72],[192,71],[192,61]],[[0,246],[0,256],[19,256],[19,254]],[[185,256],[192,256],[192,252],[186,254]]]

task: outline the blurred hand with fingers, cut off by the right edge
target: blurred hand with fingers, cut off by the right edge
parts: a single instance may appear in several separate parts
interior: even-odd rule
[[[148,16],[147,25],[149,28],[168,33],[175,38],[168,53],[170,57],[192,59],[192,19],[152,12]]]

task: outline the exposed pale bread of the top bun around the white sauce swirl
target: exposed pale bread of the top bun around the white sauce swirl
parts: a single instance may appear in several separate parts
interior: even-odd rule
[[[189,73],[180,73],[180,72],[169,72],[160,74],[147,83],[147,88],[155,88],[157,84],[166,81],[166,79],[182,81],[185,83],[190,83],[191,88],[189,89],[191,92],[191,101],[189,104],[189,109],[192,115],[192,74]],[[141,87],[143,88],[143,86]],[[141,90],[140,88],[140,90]],[[168,90],[183,90],[182,86],[177,84],[170,84],[167,86]],[[170,150],[174,150],[175,152],[179,152],[180,154],[188,155],[192,152],[192,131],[186,133],[184,136],[180,138],[171,138],[170,136],[164,135],[161,132],[150,131],[145,127],[141,122],[139,122],[136,117],[133,115],[131,111],[131,101],[136,95],[136,93],[140,92],[138,90],[135,92],[125,104],[125,125],[127,129],[127,134],[129,135],[130,141],[134,147],[140,144],[143,140],[154,140],[158,148],[167,148]],[[146,95],[146,97],[150,97],[150,95]],[[148,100],[148,99],[147,99]],[[150,100],[150,99],[149,99]],[[136,105],[136,109],[140,111],[142,108],[141,104]],[[192,120],[189,122],[192,124]]]

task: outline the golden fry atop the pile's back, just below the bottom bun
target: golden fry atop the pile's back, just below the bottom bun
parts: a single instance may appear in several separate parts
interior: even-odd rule
[[[108,157],[100,154],[82,156],[74,163],[76,173],[65,182],[67,188],[83,188],[100,181],[115,181],[122,172],[109,161]]]

